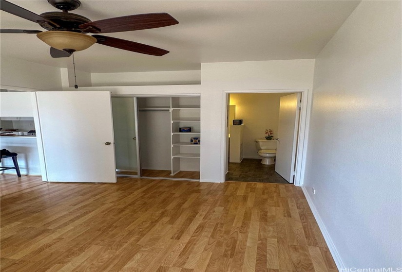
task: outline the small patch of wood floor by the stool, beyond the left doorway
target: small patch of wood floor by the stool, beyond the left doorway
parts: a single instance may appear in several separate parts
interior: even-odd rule
[[[43,185],[41,176],[0,174],[0,196],[12,194],[27,188]]]

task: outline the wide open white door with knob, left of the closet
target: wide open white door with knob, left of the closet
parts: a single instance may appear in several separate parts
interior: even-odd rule
[[[110,92],[37,92],[48,181],[116,182]]]

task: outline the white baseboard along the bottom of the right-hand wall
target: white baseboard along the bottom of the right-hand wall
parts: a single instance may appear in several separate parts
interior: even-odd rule
[[[335,264],[338,268],[339,271],[346,271],[346,267],[344,262],[341,259],[341,256],[339,255],[338,251],[336,250],[336,247],[334,245],[334,242],[332,241],[331,237],[329,236],[328,231],[325,228],[324,222],[321,220],[320,215],[318,214],[317,209],[315,208],[315,205],[310,198],[310,195],[308,194],[307,188],[302,186],[302,190],[304,195],[306,196],[306,200],[308,205],[310,206],[311,212],[314,215],[315,220],[317,221],[318,227],[321,230],[321,233],[324,236],[326,245],[328,246],[329,252],[331,253],[332,257],[334,258]]]

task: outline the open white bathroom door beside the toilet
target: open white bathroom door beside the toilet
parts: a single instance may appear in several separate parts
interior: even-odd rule
[[[301,93],[281,97],[275,171],[293,183]]]

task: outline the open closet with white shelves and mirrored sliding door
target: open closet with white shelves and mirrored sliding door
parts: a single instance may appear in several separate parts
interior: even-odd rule
[[[130,99],[114,97],[113,100]],[[116,168],[118,175],[199,180],[200,96],[136,97],[127,103],[113,102],[113,119],[126,111],[130,118],[116,121]],[[117,116],[115,117],[115,111]],[[134,120],[133,120],[134,118]],[[116,136],[116,134],[120,134]],[[124,135],[124,137],[121,137]],[[124,139],[121,139],[124,138]],[[135,140],[133,140],[135,138]],[[121,141],[118,143],[118,141]],[[133,146],[135,145],[135,148]],[[135,159],[134,159],[134,155]],[[121,158],[118,158],[122,155]],[[138,159],[136,159],[138,158]],[[119,161],[126,164],[117,164]],[[131,164],[131,166],[128,166]],[[136,166],[134,167],[134,164]],[[124,166],[124,167],[123,167]]]

